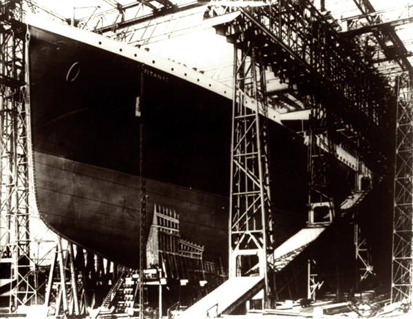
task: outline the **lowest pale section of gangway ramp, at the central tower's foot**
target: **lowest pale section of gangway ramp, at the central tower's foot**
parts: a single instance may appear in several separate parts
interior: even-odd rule
[[[179,319],[202,319],[231,313],[237,306],[251,299],[264,287],[258,276],[229,278],[207,296],[182,312]]]

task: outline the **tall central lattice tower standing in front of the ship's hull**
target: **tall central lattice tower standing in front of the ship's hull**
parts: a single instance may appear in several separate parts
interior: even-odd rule
[[[273,242],[265,116],[268,106],[260,44],[253,39],[234,45],[233,92],[229,277],[246,276],[259,263],[259,275],[265,280],[264,300],[268,301],[267,259]],[[252,109],[246,105],[247,96],[255,99]]]

